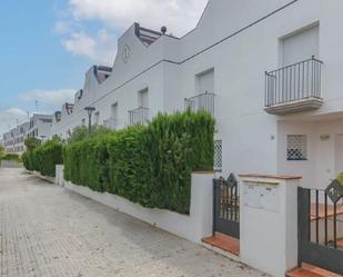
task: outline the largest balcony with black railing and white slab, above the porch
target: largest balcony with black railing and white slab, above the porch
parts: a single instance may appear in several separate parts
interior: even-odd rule
[[[319,109],[323,105],[322,63],[312,57],[265,72],[265,111],[281,116]]]

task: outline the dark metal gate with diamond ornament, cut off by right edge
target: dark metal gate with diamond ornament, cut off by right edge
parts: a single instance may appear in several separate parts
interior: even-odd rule
[[[299,266],[307,263],[343,274],[343,186],[299,188]]]

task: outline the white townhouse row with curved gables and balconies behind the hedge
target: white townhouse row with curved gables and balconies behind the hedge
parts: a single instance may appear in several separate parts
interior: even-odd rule
[[[206,109],[223,176],[300,175],[324,188],[343,171],[342,12],[341,0],[210,0],[181,38],[134,23],[113,67],[87,72],[51,135],[88,123],[85,107],[111,128]]]

